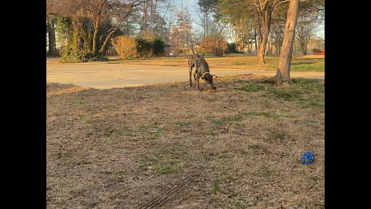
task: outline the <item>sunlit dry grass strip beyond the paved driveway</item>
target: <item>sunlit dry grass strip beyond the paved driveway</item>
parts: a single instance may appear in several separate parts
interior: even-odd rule
[[[256,69],[256,70],[277,70],[278,57],[265,57],[266,65],[257,65],[255,56],[239,55],[228,57],[207,57],[206,61],[210,68],[233,68],[233,69]],[[156,66],[177,66],[188,67],[188,56],[186,57],[165,57],[151,59],[112,60],[109,63],[128,65],[156,65]],[[292,71],[325,72],[325,56],[310,55],[297,57],[292,61]]]

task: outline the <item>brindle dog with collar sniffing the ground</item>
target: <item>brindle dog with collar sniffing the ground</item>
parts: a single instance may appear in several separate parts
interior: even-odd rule
[[[200,91],[200,84],[199,80],[200,78],[205,81],[207,86],[209,86],[210,89],[216,89],[216,87],[213,84],[213,76],[217,78],[216,75],[210,74],[209,64],[207,64],[204,54],[193,54],[188,59],[188,65],[189,65],[189,85],[192,87],[192,68],[196,68],[193,72],[193,78],[194,81],[196,81],[197,84],[197,90]]]

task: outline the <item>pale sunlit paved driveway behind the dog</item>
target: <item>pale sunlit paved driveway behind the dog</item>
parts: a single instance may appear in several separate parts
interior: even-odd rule
[[[211,68],[211,73],[223,75],[275,75],[276,71]],[[325,73],[291,72],[292,78],[325,79]],[[95,89],[111,89],[144,84],[188,81],[187,67],[144,66],[124,64],[55,64],[46,65],[46,82],[74,84]],[[200,81],[201,83],[203,81]]]

